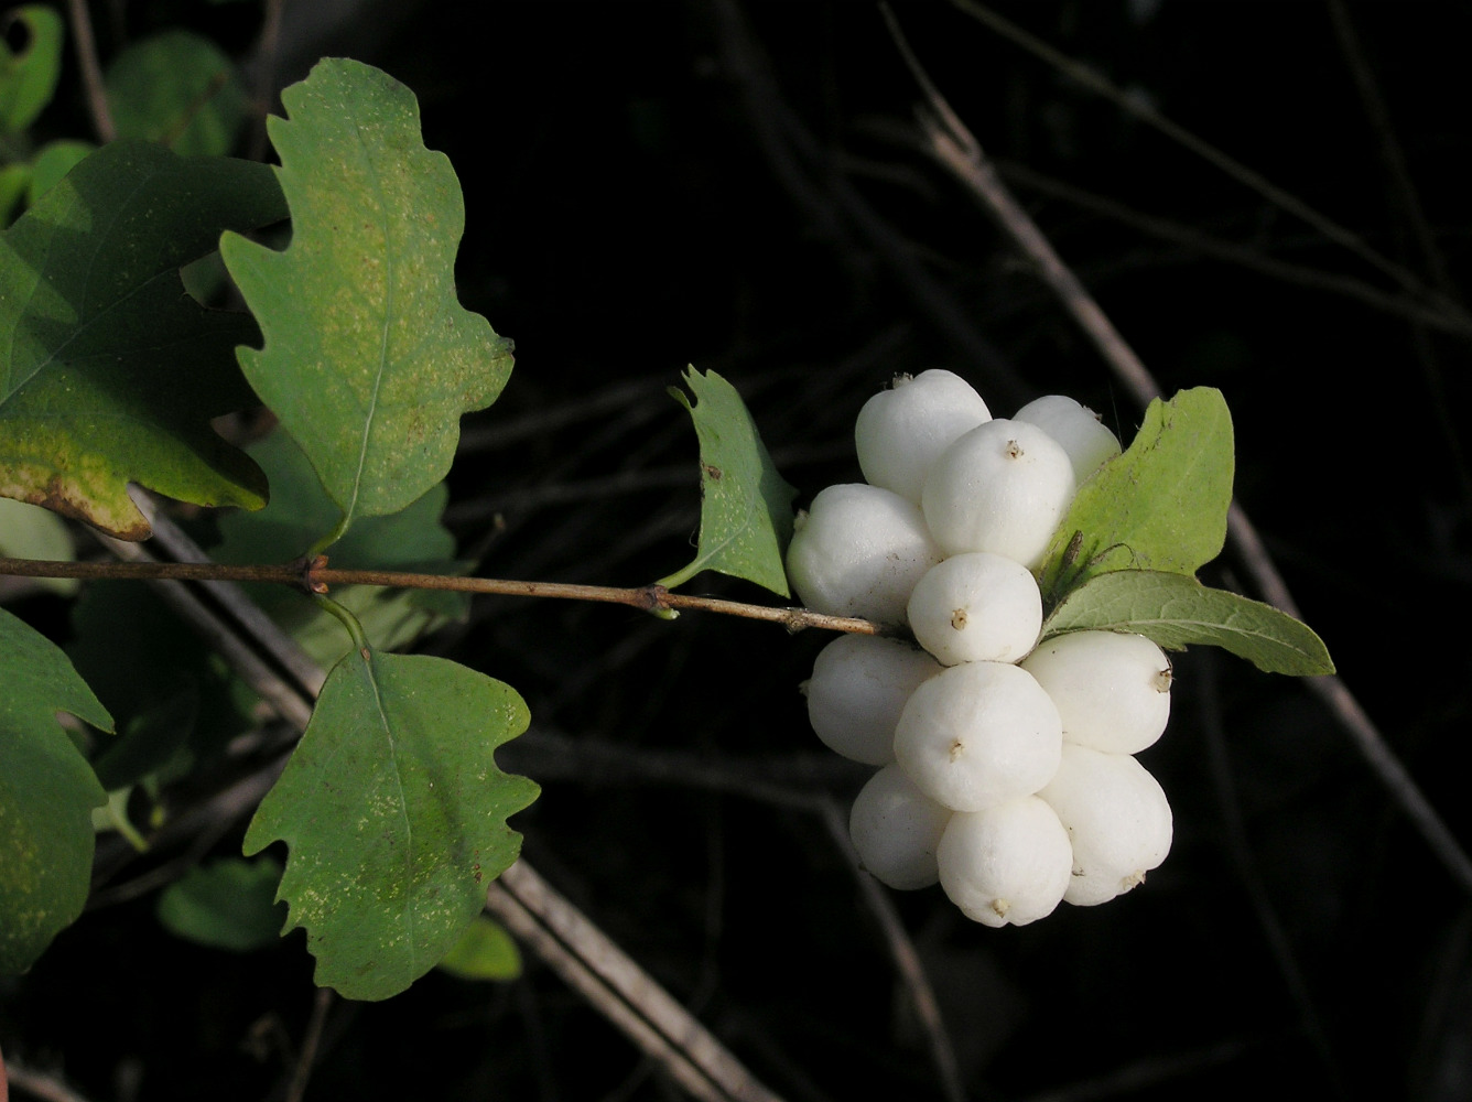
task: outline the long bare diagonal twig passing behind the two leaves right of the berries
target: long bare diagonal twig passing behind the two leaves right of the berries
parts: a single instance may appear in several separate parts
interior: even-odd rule
[[[952,0],[952,3],[957,1]],[[991,160],[982,152],[980,143],[976,141],[974,135],[966,128],[966,124],[951,110],[945,97],[941,96],[919,60],[916,60],[894,15],[888,7],[883,10],[885,18],[889,21],[891,32],[895,37],[895,44],[929,103],[930,110],[923,115],[921,124],[936,159],[955,174],[957,179],[972,191],[976,200],[1013,238],[1017,249],[1036,266],[1044,282],[1054,291],[1078,327],[1083,330],[1105,363],[1114,371],[1114,375],[1135,396],[1136,402],[1144,406],[1153,399],[1160,397],[1160,385],[1145,369],[1139,356],[1129,347],[1104,310],[1100,309],[1083,284],[1079,282],[1078,277],[1063,263],[1022,205],[1013,199],[1005,184],[997,175]],[[1228,511],[1228,536],[1267,602],[1289,615],[1297,615],[1297,605],[1288,593],[1282,575],[1263,547],[1262,538],[1248,521],[1245,511],[1235,502]],[[1451,878],[1463,892],[1472,893],[1472,859],[1468,858],[1466,850],[1457,842],[1446,821],[1431,806],[1431,800],[1426,799],[1410,774],[1406,772],[1406,768],[1395,759],[1395,755],[1385,743],[1385,737],[1376,730],[1350,690],[1338,677],[1332,675],[1310,678],[1309,684],[1329,706],[1331,714],[1350,733],[1354,744],[1391,793],[1391,799],[1400,805],[1416,830],[1420,831],[1422,839],[1431,846]]]

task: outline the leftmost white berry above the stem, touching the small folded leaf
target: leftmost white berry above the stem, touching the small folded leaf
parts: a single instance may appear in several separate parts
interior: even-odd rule
[[[788,577],[810,609],[904,624],[920,575],[944,558],[919,506],[863,483],[818,491],[788,546]]]

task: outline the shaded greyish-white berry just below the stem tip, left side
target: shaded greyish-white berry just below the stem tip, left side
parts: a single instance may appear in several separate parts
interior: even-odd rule
[[[808,719],[835,753],[866,765],[892,762],[899,712],[939,672],[939,662],[902,640],[839,636],[813,664]]]

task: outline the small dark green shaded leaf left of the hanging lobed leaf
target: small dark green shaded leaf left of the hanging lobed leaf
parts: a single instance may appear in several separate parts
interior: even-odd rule
[[[191,868],[159,896],[159,921],[178,937],[244,953],[277,940],[286,905],[275,899],[281,865],[221,858]]]

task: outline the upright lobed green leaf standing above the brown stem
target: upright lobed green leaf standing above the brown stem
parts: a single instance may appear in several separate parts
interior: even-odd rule
[[[290,121],[268,129],[291,244],[227,234],[221,255],[265,334],[240,363],[346,530],[445,477],[459,415],[495,402],[511,343],[455,297],[464,202],[449,160],[421,141],[414,94],[330,59],[281,100]]]

